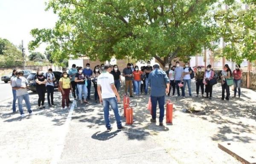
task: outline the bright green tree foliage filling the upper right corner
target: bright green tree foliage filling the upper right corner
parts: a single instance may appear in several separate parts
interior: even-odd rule
[[[225,41],[222,55],[239,64],[244,59],[256,60],[256,1],[224,0],[223,3],[228,5],[227,10],[217,9],[214,17]],[[244,9],[245,5],[248,9]]]

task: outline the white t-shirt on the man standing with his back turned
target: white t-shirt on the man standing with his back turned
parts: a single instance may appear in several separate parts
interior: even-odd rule
[[[101,86],[102,99],[103,98],[115,98],[116,95],[112,90],[111,84],[114,84],[114,77],[109,72],[102,72],[97,79],[97,85]]]

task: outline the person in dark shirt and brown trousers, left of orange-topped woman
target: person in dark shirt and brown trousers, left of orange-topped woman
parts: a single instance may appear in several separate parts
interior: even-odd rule
[[[131,70],[131,63],[127,64],[127,67],[125,69],[123,69],[122,72],[123,76],[125,77],[125,93],[128,93],[128,87],[130,88],[130,97],[133,98],[132,95],[132,80],[133,80],[133,76],[132,76],[132,70]]]

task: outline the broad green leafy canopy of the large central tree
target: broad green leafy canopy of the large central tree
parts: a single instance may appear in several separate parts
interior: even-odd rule
[[[213,49],[218,28],[212,19],[217,0],[50,0],[59,20],[53,29],[33,29],[35,49],[49,44],[52,59],[92,60],[155,57],[161,64]],[[164,58],[164,60],[162,60]]]

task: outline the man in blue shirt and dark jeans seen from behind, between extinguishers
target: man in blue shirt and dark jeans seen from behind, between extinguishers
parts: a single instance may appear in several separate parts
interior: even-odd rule
[[[169,93],[170,81],[166,72],[160,70],[160,66],[155,64],[153,71],[148,75],[148,81],[151,88],[150,98],[152,104],[151,122],[156,122],[157,101],[160,108],[159,125],[163,126],[165,95]]]

